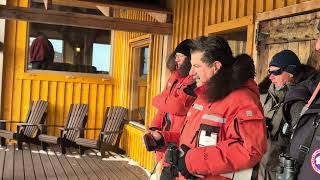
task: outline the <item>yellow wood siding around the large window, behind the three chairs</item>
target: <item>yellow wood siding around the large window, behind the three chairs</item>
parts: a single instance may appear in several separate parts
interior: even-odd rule
[[[28,1],[10,0],[12,6],[28,6]],[[113,81],[101,75],[80,73],[30,71],[24,72],[27,50],[27,22],[6,21],[3,99],[1,118],[24,121],[30,101],[49,102],[48,125],[63,126],[70,104],[89,104],[88,127],[100,128],[105,107],[113,105]],[[16,124],[8,124],[11,131]],[[57,128],[48,129],[59,135]],[[87,132],[86,137],[97,138],[98,132]]]

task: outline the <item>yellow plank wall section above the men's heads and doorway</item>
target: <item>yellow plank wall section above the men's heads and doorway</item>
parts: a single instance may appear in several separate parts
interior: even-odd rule
[[[173,47],[204,35],[205,27],[308,0],[176,0]]]

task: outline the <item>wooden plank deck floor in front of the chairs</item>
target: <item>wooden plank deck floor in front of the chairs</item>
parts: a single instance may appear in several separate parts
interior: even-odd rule
[[[80,156],[72,148],[62,155],[57,147],[43,151],[40,146],[25,144],[23,150],[17,150],[15,145],[8,145],[0,147],[0,177],[3,180],[147,180],[146,172],[130,165],[128,160],[116,154],[101,159],[95,151]]]

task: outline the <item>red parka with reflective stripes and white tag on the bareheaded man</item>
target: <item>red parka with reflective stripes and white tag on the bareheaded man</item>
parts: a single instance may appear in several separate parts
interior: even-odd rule
[[[191,174],[210,180],[228,179],[219,174],[252,168],[266,151],[259,92],[250,79],[224,99],[209,103],[203,97],[205,90],[205,86],[196,89],[198,98],[188,112],[181,134],[162,135],[165,142],[191,148],[185,159]]]

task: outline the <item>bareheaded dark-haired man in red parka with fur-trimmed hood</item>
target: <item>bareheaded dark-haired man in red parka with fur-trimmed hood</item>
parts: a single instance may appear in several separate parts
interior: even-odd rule
[[[168,150],[176,143],[178,160],[169,162],[178,179],[251,179],[267,142],[251,57],[234,58],[225,39],[203,36],[193,42],[191,64],[197,99],[183,128],[152,137]]]

